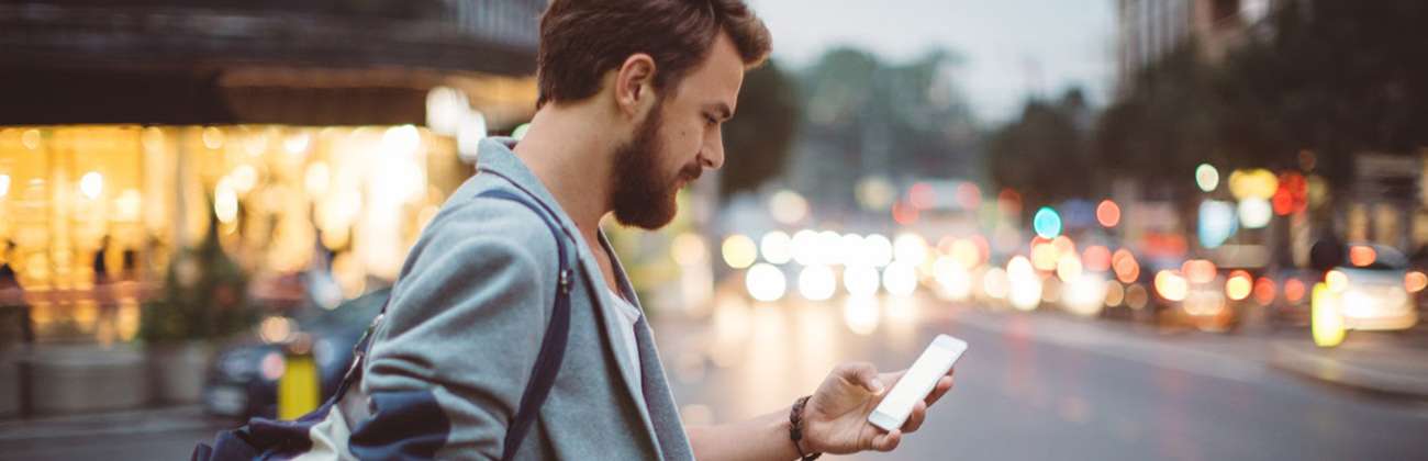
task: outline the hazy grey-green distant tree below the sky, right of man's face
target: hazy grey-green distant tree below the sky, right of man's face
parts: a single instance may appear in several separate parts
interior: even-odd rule
[[[975,123],[957,87],[960,59],[934,50],[890,64],[858,49],[834,49],[800,83],[804,127],[794,187],[820,204],[853,207],[854,184],[970,177]]]

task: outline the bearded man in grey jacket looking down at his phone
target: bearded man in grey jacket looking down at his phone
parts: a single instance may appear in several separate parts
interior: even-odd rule
[[[741,0],[551,1],[530,131],[520,143],[484,141],[481,171],[433,218],[393,288],[356,394],[366,408],[346,398],[344,421],[326,422],[354,427],[351,454],[497,458],[506,450],[560,263],[543,217],[483,196],[491,190],[554,210],[578,255],[568,347],[517,458],[793,460],[888,451],[917,430],[951,375],[901,431],[885,432],[867,415],[900,374],[870,364],[833,370],[801,411],[685,430],[640,303],[600,230],[608,214],[641,228],[674,217],[675,193],[724,163],[720,126],[734,116],[744,71],[768,50],[768,30]]]

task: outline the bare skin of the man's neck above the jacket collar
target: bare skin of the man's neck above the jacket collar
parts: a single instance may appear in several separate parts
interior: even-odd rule
[[[531,118],[516,156],[550,190],[591,248],[600,220],[611,210],[610,174],[615,143],[591,106],[545,104]]]

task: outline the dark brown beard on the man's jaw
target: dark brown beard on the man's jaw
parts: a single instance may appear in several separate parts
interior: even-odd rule
[[[655,103],[654,111],[635,128],[634,138],[615,148],[615,164],[611,171],[611,203],[615,221],[655,230],[670,224],[678,211],[675,196],[680,181],[694,181],[703,170],[695,163],[681,168],[674,177],[660,168],[660,128],[663,127],[663,103]]]

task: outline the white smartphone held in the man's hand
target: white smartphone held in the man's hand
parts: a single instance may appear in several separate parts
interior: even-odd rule
[[[868,414],[868,422],[885,431],[892,431],[907,422],[912,405],[927,398],[937,380],[952,370],[952,364],[967,351],[967,341],[940,334],[922,355],[907,368],[907,374],[892,385],[883,402]]]

